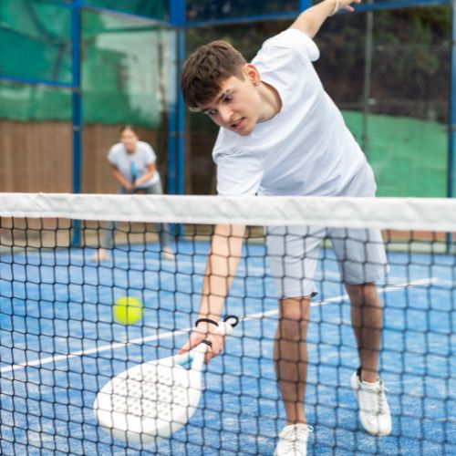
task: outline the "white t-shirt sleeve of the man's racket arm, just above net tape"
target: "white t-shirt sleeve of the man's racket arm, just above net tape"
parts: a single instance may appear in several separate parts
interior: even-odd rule
[[[224,196],[254,195],[263,179],[260,161],[225,155],[217,160],[217,193]]]

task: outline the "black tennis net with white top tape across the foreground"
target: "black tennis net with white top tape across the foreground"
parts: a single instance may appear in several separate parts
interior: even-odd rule
[[[232,225],[247,226],[241,254]],[[456,454],[455,231],[456,202],[443,199],[0,193],[0,452],[272,455],[281,388],[289,404],[284,384],[306,383],[307,454]],[[214,233],[222,265],[206,269]],[[97,424],[98,391],[176,353],[205,275],[216,298],[233,280],[223,316],[241,323],[205,368],[198,408],[171,438],[118,439]],[[363,429],[350,386],[353,314],[363,359],[377,353],[378,320],[362,313],[370,288],[355,286],[373,281],[392,420],[383,438]],[[292,316],[291,298],[314,294],[310,317]],[[129,325],[113,315],[125,296],[142,303]],[[290,299],[280,314],[277,297]],[[308,359],[294,358],[290,322],[299,340],[307,331]],[[306,382],[289,373],[296,365]]]

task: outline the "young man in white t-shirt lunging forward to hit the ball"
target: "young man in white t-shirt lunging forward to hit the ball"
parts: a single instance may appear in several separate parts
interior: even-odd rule
[[[267,40],[247,63],[228,43],[200,47],[185,62],[185,102],[220,126],[213,157],[223,195],[374,196],[373,173],[342,115],[321,85],[312,62],[312,38],[339,8],[360,0],[324,0],[285,32]],[[199,322],[181,351],[208,337],[206,361],[223,348],[216,322],[239,264],[244,226],[218,225],[202,287]],[[376,281],[388,269],[378,231],[317,227],[268,228],[268,255],[279,297],[275,370],[287,424],[275,455],[306,454],[308,434],[306,332],[316,288],[316,252],[331,238],[351,303],[360,366],[351,378],[359,417],[372,435],[391,430],[389,406],[378,378],[382,310]],[[304,240],[304,242],[303,242]],[[304,272],[304,274],[303,274]]]

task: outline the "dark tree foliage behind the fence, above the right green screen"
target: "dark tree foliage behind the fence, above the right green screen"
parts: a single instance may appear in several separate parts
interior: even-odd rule
[[[291,22],[191,28],[188,50],[225,39],[252,59],[265,39]],[[325,22],[315,38],[321,53],[317,72],[329,94],[347,108],[359,109],[363,103],[366,24],[366,13],[337,15]],[[428,117],[432,111],[432,116],[445,120],[450,93],[451,6],[376,11],[372,38],[368,77],[378,112]]]

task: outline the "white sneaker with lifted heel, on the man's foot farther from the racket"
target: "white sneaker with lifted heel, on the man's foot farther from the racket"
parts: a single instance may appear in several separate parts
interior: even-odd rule
[[[378,379],[375,383],[361,381],[360,369],[350,379],[351,388],[358,399],[359,420],[369,434],[376,437],[386,437],[391,432],[391,412],[383,382]]]

